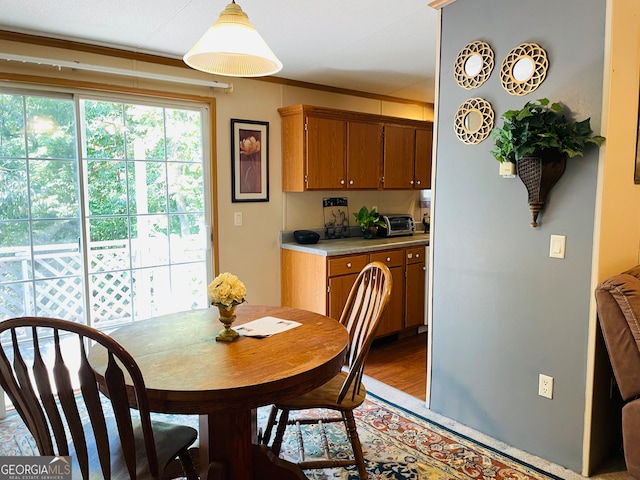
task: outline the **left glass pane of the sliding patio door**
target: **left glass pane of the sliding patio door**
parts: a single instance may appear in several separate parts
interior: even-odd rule
[[[70,97],[0,94],[0,319],[84,321]]]

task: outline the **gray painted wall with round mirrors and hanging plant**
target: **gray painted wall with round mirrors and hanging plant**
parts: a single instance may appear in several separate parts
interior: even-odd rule
[[[597,149],[569,159],[529,226],[519,179],[498,175],[491,138],[461,143],[453,120],[482,97],[496,125],[506,110],[547,97],[600,131],[605,3],[602,0],[457,0],[442,11],[432,245],[431,408],[574,471],[582,467]],[[489,80],[464,90],[458,52],[483,40],[494,50]],[[509,51],[538,43],[550,67],[525,97],[509,95],[499,69]],[[566,235],[566,258],[549,258],[550,235]],[[538,374],[554,398],[538,396]]]

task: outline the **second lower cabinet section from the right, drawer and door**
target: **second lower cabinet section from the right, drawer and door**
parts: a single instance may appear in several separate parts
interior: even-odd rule
[[[369,255],[372,262],[382,262],[391,271],[393,285],[391,286],[391,297],[387,311],[384,313],[376,337],[384,337],[391,333],[396,333],[403,328],[404,319],[404,250],[385,250]]]

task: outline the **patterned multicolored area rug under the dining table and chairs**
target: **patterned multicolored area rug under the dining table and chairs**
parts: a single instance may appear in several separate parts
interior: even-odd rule
[[[258,409],[258,424],[264,427],[269,407]],[[368,393],[355,411],[367,470],[371,480],[560,480],[493,448],[415,415]],[[164,420],[187,423],[197,428],[197,417],[158,415]],[[303,426],[307,459],[318,454],[315,426]],[[350,455],[349,442],[340,424],[326,426],[330,449],[339,456]],[[308,451],[306,451],[308,450]],[[0,420],[0,456],[37,455],[35,442],[15,413]],[[297,460],[295,428],[287,429],[281,455]],[[355,467],[307,470],[310,479],[359,478]]]

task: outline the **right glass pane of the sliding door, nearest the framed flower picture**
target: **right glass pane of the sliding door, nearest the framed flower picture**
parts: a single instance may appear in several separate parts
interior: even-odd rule
[[[92,322],[206,307],[202,112],[96,99],[80,111]]]

